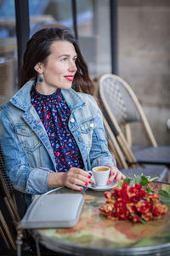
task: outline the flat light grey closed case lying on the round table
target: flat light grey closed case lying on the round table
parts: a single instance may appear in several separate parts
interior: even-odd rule
[[[84,198],[82,194],[35,195],[20,229],[66,228],[77,224]]]

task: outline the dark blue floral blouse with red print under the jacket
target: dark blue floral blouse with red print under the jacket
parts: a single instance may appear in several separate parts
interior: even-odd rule
[[[38,93],[33,86],[31,104],[47,131],[58,172],[67,172],[71,167],[83,168],[80,150],[68,128],[71,113],[61,90],[58,89],[48,96]]]

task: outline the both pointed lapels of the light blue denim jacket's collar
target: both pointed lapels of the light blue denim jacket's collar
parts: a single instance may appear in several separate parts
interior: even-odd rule
[[[31,108],[31,88],[34,84],[34,80],[28,81],[11,99],[10,102],[14,104],[17,108],[20,108],[24,111]],[[75,90],[61,90],[62,95],[67,102],[68,107],[71,109],[71,112],[77,108],[82,108],[85,106],[85,102],[82,101],[82,97]]]

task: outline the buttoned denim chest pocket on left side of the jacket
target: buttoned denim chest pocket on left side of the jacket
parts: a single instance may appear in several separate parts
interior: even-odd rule
[[[37,135],[26,124],[15,124],[14,131],[20,141],[22,148],[26,151],[34,152],[40,147],[41,142]]]

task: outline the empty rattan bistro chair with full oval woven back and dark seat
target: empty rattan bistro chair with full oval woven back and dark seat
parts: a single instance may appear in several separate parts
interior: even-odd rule
[[[114,74],[103,75],[99,79],[99,99],[105,117],[129,162],[170,165],[170,146],[157,145],[143,108],[126,81]],[[142,126],[147,146],[133,147],[133,123]]]

